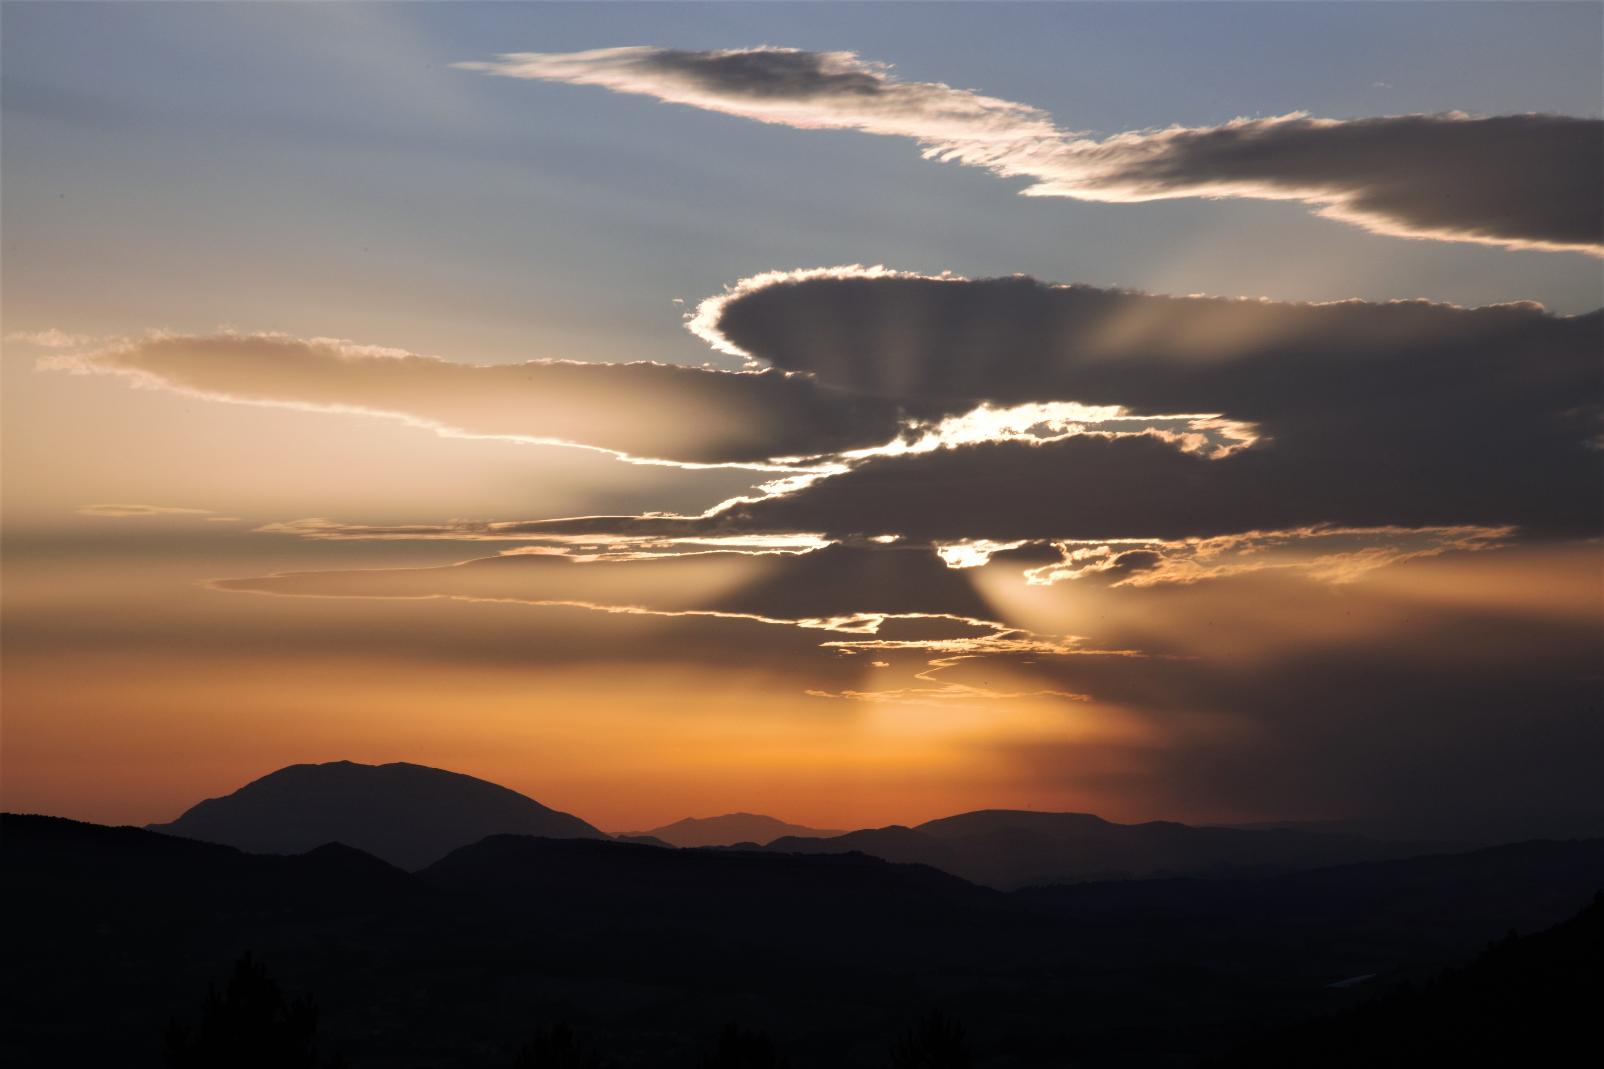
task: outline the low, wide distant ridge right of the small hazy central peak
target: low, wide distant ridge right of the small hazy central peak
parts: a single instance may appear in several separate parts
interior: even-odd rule
[[[914,829],[892,825],[834,838],[786,837],[767,846],[805,854],[860,849],[887,861],[934,865],[999,889],[1076,880],[1275,875],[1448,848],[1453,845],[1381,843],[1359,835],[1288,830],[1246,832],[1171,821],[1112,824],[1088,813],[1028,809],[982,809]]]

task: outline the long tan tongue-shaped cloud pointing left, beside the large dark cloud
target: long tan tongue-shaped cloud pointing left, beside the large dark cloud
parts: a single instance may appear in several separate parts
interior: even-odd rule
[[[472,365],[279,335],[156,335],[40,365],[122,375],[213,401],[387,415],[449,434],[678,463],[762,465],[879,446],[900,431],[893,404],[775,370],[574,361]]]

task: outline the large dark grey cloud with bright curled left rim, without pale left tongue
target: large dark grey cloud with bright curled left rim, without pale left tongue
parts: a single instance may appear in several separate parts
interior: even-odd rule
[[[1033,279],[808,277],[723,303],[731,345],[937,418],[978,402],[1219,413],[1225,457],[1158,436],[873,457],[699,521],[922,539],[1208,537],[1309,524],[1599,527],[1601,314],[1290,305]]]

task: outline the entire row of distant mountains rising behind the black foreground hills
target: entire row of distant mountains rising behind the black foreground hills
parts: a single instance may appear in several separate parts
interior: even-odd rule
[[[486,835],[611,838],[576,816],[473,776],[422,764],[353,761],[281,768],[231,795],[207,798],[172,824],[149,824],[146,830],[274,854],[300,854],[337,841],[409,872]],[[685,819],[622,840],[682,848],[735,841],[733,849],[783,854],[861,851],[930,865],[1003,891],[1086,880],[1267,877],[1469,849],[1463,843],[1376,841],[1320,830],[1190,827],[1169,821],[1113,824],[1089,813],[982,809],[913,829],[840,833],[731,813]],[[755,841],[738,841],[741,837]],[[764,841],[767,846],[759,846]]]

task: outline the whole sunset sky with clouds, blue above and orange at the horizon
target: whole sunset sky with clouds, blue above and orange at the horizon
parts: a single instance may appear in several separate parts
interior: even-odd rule
[[[0,30],[10,811],[1604,827],[1598,3]]]

